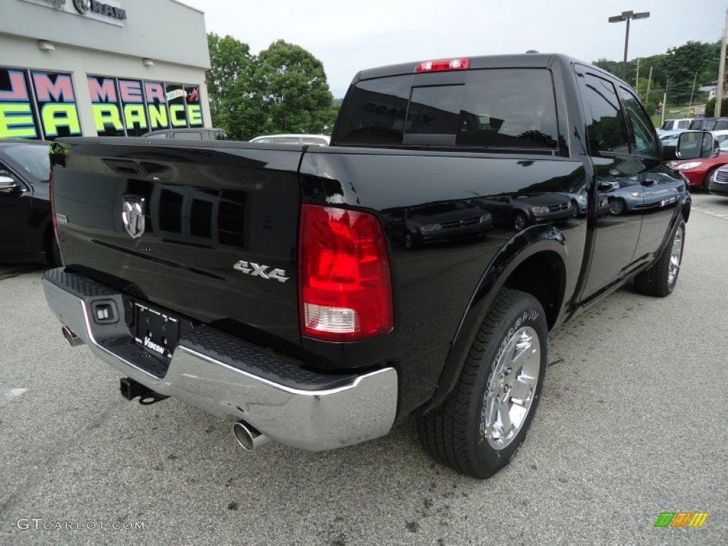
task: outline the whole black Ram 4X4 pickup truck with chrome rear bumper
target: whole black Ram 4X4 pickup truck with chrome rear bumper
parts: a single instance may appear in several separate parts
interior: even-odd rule
[[[480,478],[529,428],[549,331],[629,280],[667,296],[690,213],[633,91],[563,55],[362,71],[328,147],[58,143],[45,294],[125,397],[232,419],[246,449],[414,417]]]

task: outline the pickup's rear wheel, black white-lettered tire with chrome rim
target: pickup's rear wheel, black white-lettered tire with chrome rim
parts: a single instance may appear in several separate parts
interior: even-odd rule
[[[488,478],[505,467],[526,437],[541,397],[547,343],[546,317],[539,301],[518,290],[502,290],[475,336],[455,388],[440,407],[418,419],[417,430],[425,451],[436,461],[475,478]],[[516,350],[520,350],[518,355],[524,360],[511,358]],[[531,375],[528,382],[518,381],[526,376],[526,362],[528,373],[537,370],[538,376]],[[513,383],[507,391],[503,385],[509,380],[499,370],[505,371]],[[524,385],[528,387],[523,388]],[[505,392],[506,400],[492,410],[499,400],[499,392],[494,388],[500,389],[500,394]],[[527,393],[529,405],[517,430],[509,429],[513,435],[503,438],[499,424],[489,421],[488,410],[491,409],[491,416],[502,415],[498,408],[507,408],[510,414],[510,408],[517,405],[513,393]],[[517,406],[516,411],[524,407],[520,403]],[[499,442],[502,446],[496,446]]]

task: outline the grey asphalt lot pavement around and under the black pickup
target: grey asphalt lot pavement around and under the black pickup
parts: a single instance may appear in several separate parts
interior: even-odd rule
[[[63,341],[41,277],[0,265],[2,545],[728,543],[728,199],[694,196],[670,297],[622,288],[552,334],[529,436],[484,481],[413,424],[246,454],[195,408],[127,402]],[[655,528],[665,512],[709,515]]]

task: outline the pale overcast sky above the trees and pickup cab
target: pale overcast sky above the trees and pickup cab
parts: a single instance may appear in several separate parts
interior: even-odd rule
[[[304,47],[324,65],[341,98],[362,68],[466,55],[566,53],[622,60],[621,12],[650,12],[630,24],[628,57],[721,39],[728,0],[181,0],[205,12],[208,32],[250,45]],[[717,74],[716,74],[717,78]]]

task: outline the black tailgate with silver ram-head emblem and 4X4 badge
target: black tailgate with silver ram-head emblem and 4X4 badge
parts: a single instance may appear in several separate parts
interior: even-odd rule
[[[300,343],[294,146],[61,139],[66,266],[223,331]]]

